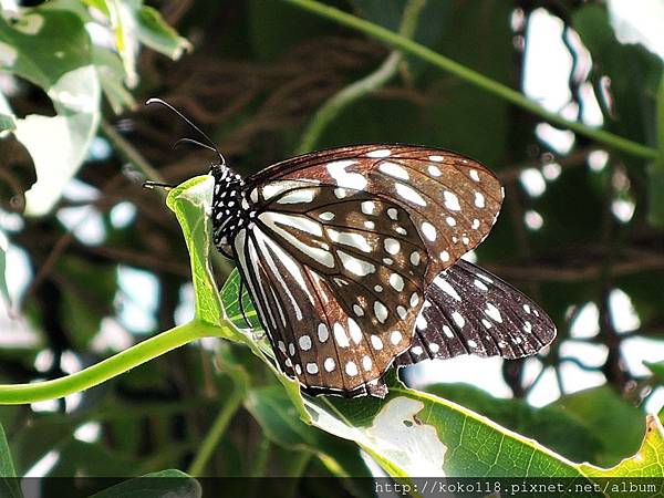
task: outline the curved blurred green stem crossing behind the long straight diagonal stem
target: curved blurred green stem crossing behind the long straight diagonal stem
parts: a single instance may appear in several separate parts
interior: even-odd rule
[[[400,28],[402,37],[411,38],[413,35],[417,25],[419,12],[424,8],[424,0],[411,0],[406,4]],[[330,97],[330,100],[328,100],[328,102],[325,102],[315,113],[311,124],[304,132],[302,142],[298,147],[298,154],[304,154],[312,151],[325,127],[344,108],[387,83],[396,74],[403,58],[403,52],[398,50],[393,51],[373,73],[352,83]]]

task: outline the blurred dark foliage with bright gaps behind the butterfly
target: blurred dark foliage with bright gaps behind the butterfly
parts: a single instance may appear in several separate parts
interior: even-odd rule
[[[405,1],[330,3],[397,31]],[[664,398],[662,54],[621,39],[611,3],[429,0],[412,38],[652,154],[547,124],[412,55],[304,144],[426,144],[498,174],[506,204],[470,257],[540,302],[559,339],[537,359],[486,370],[501,377],[498,397],[450,370],[433,385],[424,369],[402,378],[602,466],[636,452],[645,409],[660,411]],[[281,1],[1,4],[4,384],[60,377],[193,314],[179,227],[142,183],[177,184],[214,157],[172,149],[193,131],[138,103],[159,96],[177,106],[248,175],[300,151],[325,102],[391,56],[381,42]],[[652,15],[663,14],[653,6]],[[558,103],[528,87],[536,43],[540,65],[550,61],[566,81],[551,86]],[[219,264],[219,282],[230,269]],[[264,391],[232,398],[247,372]],[[344,471],[366,474],[354,446],[270,419],[270,406],[288,403],[272,384],[241,346],[201,341],[64,400],[2,407],[0,423],[20,475],[129,476],[187,469],[220,407],[235,404],[198,474],[330,475],[321,445]]]

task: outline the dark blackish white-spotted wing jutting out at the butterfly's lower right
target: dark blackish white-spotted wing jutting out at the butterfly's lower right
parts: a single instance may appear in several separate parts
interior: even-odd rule
[[[459,260],[427,288],[413,345],[396,363],[459,354],[513,360],[536,354],[554,336],[553,322],[532,300]]]

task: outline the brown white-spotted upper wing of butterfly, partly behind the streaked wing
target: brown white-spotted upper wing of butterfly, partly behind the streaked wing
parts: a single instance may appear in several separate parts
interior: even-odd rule
[[[427,283],[488,235],[502,187],[479,163],[447,151],[405,145],[342,147],[279,163],[249,178],[318,181],[384,197],[403,206],[429,264]]]

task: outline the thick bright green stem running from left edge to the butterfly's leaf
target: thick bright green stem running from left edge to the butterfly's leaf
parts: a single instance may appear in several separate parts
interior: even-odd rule
[[[0,385],[0,405],[22,405],[56,400],[94,387],[168,351],[197,339],[219,335],[224,330],[208,323],[191,321],[71,375],[32,384],[2,384]]]

